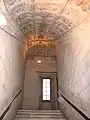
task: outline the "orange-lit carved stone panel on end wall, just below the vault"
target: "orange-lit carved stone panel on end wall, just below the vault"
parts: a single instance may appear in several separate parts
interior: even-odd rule
[[[54,57],[56,56],[54,41],[47,40],[35,40],[30,41],[28,45],[28,56],[44,56]]]

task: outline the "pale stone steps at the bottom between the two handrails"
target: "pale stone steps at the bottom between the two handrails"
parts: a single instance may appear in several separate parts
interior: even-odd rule
[[[59,110],[18,110],[14,120],[66,120]]]

